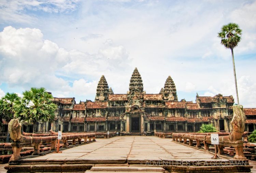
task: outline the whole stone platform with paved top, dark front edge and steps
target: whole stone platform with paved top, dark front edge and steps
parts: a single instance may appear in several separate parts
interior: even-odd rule
[[[11,161],[10,172],[250,172],[248,160],[214,160],[213,155],[172,139],[117,136],[97,139],[62,153]]]

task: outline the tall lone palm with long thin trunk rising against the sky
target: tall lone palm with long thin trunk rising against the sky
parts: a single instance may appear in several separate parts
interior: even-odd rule
[[[218,37],[221,38],[221,44],[224,45],[226,49],[231,49],[234,80],[235,80],[236,94],[237,94],[237,104],[239,104],[239,99],[238,99],[238,91],[237,91],[237,77],[236,77],[236,68],[234,65],[233,49],[240,42],[241,35],[242,35],[242,30],[240,29],[237,23],[228,23],[227,25],[223,25],[223,27],[221,28],[221,31],[218,33]]]

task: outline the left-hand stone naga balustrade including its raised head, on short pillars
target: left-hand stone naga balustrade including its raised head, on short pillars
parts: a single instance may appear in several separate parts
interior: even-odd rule
[[[21,124],[19,123],[18,119],[12,119],[9,122],[8,129],[10,132],[10,136],[14,141],[12,145],[13,155],[10,160],[18,160],[21,158],[20,151],[23,147],[33,146],[34,147],[34,155],[40,154],[40,145],[43,143],[51,143],[51,150],[56,150],[56,143],[58,138],[58,133],[55,134],[28,134],[28,133],[21,133]],[[48,135],[48,136],[47,136]],[[89,138],[89,142],[93,140],[95,141],[95,134],[94,133],[68,133],[62,134],[61,141],[63,141],[63,147],[67,148],[68,140],[72,140],[72,145],[76,144],[76,140],[81,143],[81,140],[84,139],[84,143],[87,143],[87,138]]]

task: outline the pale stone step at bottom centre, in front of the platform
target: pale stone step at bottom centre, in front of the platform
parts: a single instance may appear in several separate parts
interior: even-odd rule
[[[145,166],[95,166],[90,172],[164,172],[165,169],[161,167],[145,167]],[[87,172],[86,171],[86,172]]]

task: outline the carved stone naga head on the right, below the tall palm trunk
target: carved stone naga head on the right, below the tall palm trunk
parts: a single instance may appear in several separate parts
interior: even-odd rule
[[[233,131],[242,133],[245,129],[245,115],[242,105],[233,106],[233,118],[231,121]]]

